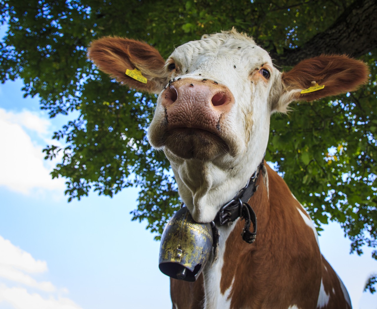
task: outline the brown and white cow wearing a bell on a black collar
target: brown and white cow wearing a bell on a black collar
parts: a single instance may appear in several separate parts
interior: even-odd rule
[[[169,159],[193,220],[219,231],[216,259],[198,280],[171,279],[173,308],[351,308],[310,216],[264,156],[271,114],[287,112],[291,101],[355,90],[368,79],[365,63],[320,55],[280,72],[234,28],[185,43],[167,60],[147,43],[120,37],[95,40],[88,57],[118,82],[159,94],[149,142]],[[219,219],[250,182],[253,194],[239,201],[239,214]],[[246,204],[256,235],[255,220],[245,228]]]

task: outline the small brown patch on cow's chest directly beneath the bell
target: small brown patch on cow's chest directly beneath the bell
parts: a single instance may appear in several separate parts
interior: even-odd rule
[[[203,274],[195,282],[170,278],[173,309],[202,309],[204,307]]]

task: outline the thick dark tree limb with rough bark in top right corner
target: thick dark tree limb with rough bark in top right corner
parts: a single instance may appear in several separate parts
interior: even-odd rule
[[[303,46],[270,51],[277,66],[294,66],[301,60],[321,54],[346,54],[360,57],[377,48],[377,0],[356,0],[331,27],[316,34]]]

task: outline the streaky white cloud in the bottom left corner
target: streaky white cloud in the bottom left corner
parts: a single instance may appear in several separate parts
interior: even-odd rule
[[[56,295],[57,292],[67,293],[66,288],[58,291],[51,282],[38,282],[32,277],[31,274],[48,271],[46,261],[35,260],[30,253],[14,246],[2,236],[0,236],[0,252],[0,308],[3,304],[8,305],[7,308],[11,306],[15,309],[80,308],[72,300]],[[11,286],[12,284],[14,286]],[[47,298],[29,292],[30,288],[47,294]]]

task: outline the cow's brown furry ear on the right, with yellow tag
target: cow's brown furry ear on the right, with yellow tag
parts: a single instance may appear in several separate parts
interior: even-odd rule
[[[273,111],[285,112],[291,101],[312,101],[354,91],[368,80],[368,67],[346,55],[322,55],[299,62],[276,80],[280,97]]]

